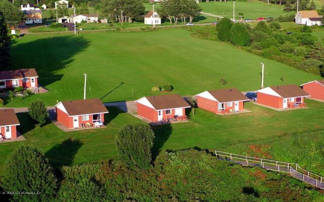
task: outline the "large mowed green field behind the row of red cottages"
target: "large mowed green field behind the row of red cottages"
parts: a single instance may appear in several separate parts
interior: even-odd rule
[[[87,97],[102,102],[135,100],[153,94],[152,86],[171,84],[183,96],[207,89],[260,88],[260,63],[265,64],[265,86],[301,84],[319,78],[267,60],[224,42],[191,37],[183,29],[152,32],[100,32],[25,35],[12,42],[11,69],[36,68],[39,84],[48,93],[16,97],[6,107],[27,107],[42,99],[58,101],[83,98],[84,73]],[[221,86],[219,79],[227,84]],[[90,86],[90,89],[89,89]],[[163,93],[160,93],[163,94]]]

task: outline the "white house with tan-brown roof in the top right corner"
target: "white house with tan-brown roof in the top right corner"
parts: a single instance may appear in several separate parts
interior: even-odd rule
[[[296,24],[304,24],[308,26],[321,25],[321,19],[317,11],[298,11],[295,17]]]

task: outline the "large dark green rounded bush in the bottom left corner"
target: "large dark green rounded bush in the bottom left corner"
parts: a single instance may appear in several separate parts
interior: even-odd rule
[[[53,169],[42,151],[34,146],[19,146],[2,172],[6,191],[40,192],[13,194],[13,201],[49,201],[55,194],[57,180]]]

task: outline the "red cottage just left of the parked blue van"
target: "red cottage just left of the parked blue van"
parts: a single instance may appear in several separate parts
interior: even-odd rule
[[[235,88],[207,90],[195,95],[199,108],[213,113],[240,112],[250,99]]]

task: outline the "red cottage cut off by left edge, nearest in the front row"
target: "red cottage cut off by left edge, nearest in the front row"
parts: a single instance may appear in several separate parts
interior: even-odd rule
[[[16,126],[19,125],[20,123],[13,109],[0,110],[0,136],[2,138],[16,138]]]

